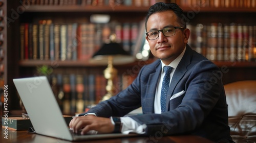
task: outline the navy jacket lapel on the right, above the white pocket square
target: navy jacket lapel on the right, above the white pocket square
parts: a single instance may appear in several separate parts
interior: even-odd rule
[[[169,107],[169,100],[170,100],[170,97],[172,97],[174,94],[173,92],[175,87],[177,86],[178,82],[182,79],[182,77],[187,71],[186,67],[187,65],[190,64],[190,59],[191,59],[191,48],[187,45],[186,51],[175,70],[172,81],[170,82],[170,86],[169,86],[167,97],[166,97],[166,109],[168,109]]]

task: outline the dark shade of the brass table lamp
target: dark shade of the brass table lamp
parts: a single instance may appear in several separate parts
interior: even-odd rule
[[[124,51],[119,43],[105,43],[99,51],[93,55],[90,62],[106,65],[108,64],[109,56],[113,57],[113,64],[125,64],[135,61],[135,58],[128,52]]]

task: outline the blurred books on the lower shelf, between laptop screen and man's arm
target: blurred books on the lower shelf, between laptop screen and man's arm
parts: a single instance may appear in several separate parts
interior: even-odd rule
[[[53,74],[48,76],[63,114],[84,112],[98,104],[106,93],[103,74]],[[113,80],[114,95],[131,84],[135,77],[119,75]]]

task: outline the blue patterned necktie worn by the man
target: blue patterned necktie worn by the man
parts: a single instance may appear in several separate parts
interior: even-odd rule
[[[162,113],[165,112],[166,110],[166,96],[167,96],[167,91],[169,88],[169,83],[170,83],[170,71],[172,71],[172,67],[170,66],[164,66],[164,77],[163,77],[163,83],[162,83],[162,89],[161,89],[161,111]]]

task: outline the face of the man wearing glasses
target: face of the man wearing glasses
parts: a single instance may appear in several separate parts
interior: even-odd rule
[[[172,10],[152,14],[147,21],[147,32],[161,30],[166,27],[179,27],[178,18]],[[184,50],[190,31],[188,29],[176,29],[175,35],[166,37],[159,32],[155,40],[148,40],[152,54],[168,65],[176,59]]]

